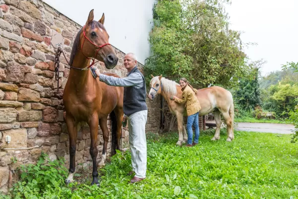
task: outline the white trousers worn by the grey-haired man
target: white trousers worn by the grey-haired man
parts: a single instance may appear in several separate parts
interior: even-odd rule
[[[147,142],[145,126],[147,110],[136,112],[128,117],[129,145],[132,152],[132,167],[135,177],[146,178]]]

